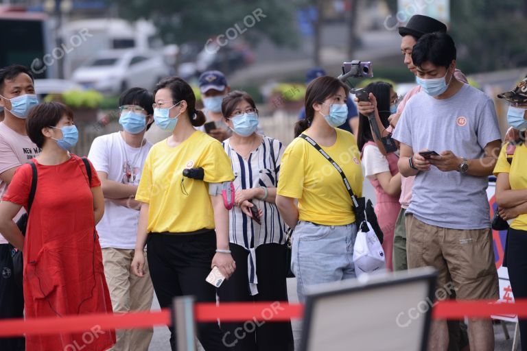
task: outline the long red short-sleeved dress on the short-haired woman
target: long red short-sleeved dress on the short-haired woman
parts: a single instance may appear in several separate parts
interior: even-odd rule
[[[90,187],[100,186],[91,166],[75,155],[56,166],[39,165],[36,194],[24,241],[25,317],[112,313]],[[16,170],[3,201],[27,208],[32,169]],[[26,350],[107,350],[115,332],[97,326],[78,334],[29,335]]]

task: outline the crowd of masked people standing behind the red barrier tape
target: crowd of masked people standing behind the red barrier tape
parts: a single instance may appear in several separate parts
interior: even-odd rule
[[[502,143],[493,100],[467,84],[446,32],[420,15],[399,27],[418,84],[401,101],[392,84],[373,82],[369,101],[355,105],[347,84],[309,71],[290,145],[264,135],[253,97],[207,71],[203,110],[180,77],[122,92],[122,129],[95,138],[82,158],[69,152],[79,136],[73,112],[40,104],[26,67],[0,69],[0,318],[145,311],[154,292],[162,308],[181,295],[286,301],[288,265],[304,302],[314,285],[356,276],[350,193],[362,196],[364,178],[375,189],[388,271],[432,266],[440,289],[454,285],[445,299],[495,300],[486,189],[496,175],[498,213],[512,220],[505,264],[515,297],[526,298],[527,78],[498,96],[510,103],[513,128]],[[220,286],[207,282],[211,269]],[[197,337],[205,350],[294,349],[290,322],[244,326],[198,323]],[[527,350],[527,322],[519,326]],[[0,343],[148,350],[151,339],[152,328],[104,331],[89,344],[60,332]],[[434,320],[430,348],[493,350],[491,319]]]

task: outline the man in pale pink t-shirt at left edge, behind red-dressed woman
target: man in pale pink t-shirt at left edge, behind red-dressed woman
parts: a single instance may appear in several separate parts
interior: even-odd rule
[[[38,104],[33,75],[24,66],[7,66],[0,69],[0,107],[4,119],[0,122],[0,197],[8,189],[14,172],[21,165],[40,154],[27,136],[25,118]],[[18,220],[22,209],[14,218]],[[12,254],[14,247],[0,234],[0,318],[23,317],[23,291],[14,276]],[[19,277],[21,282],[21,277]],[[5,350],[23,350],[24,339],[3,339]]]

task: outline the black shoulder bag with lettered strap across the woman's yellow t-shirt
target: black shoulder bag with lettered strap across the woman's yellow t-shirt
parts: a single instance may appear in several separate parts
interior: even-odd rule
[[[379,239],[380,243],[384,240],[384,234],[382,233],[381,228],[379,227],[379,223],[377,222],[377,215],[375,215],[375,210],[373,209],[373,204],[371,203],[371,200],[368,199],[366,201],[365,197],[356,197],[353,193],[353,190],[351,189],[351,185],[349,185],[349,181],[346,178],[346,175],[344,174],[344,171],[342,171],[342,168],[335,162],[323,149],[314,141],[312,138],[309,138],[309,136],[305,134],[300,134],[300,137],[303,138],[307,143],[311,144],[315,149],[322,154],[326,158],[326,160],[335,167],[335,169],[338,171],[340,176],[342,177],[342,181],[344,182],[344,186],[346,186],[346,189],[349,193],[349,196],[351,197],[351,202],[353,203],[353,212],[355,213],[355,226],[357,226],[357,230],[361,230],[363,232],[368,231],[368,226],[366,224],[366,221],[370,223],[371,228],[375,231],[375,234],[377,235],[377,238]]]

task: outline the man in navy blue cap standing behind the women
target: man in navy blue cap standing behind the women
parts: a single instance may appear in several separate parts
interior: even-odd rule
[[[200,75],[200,93],[203,101],[203,113],[207,118],[205,125],[199,128],[219,141],[224,141],[232,135],[231,130],[223,121],[222,100],[231,91],[225,75],[220,71],[205,71]],[[211,127],[207,127],[211,125]]]

